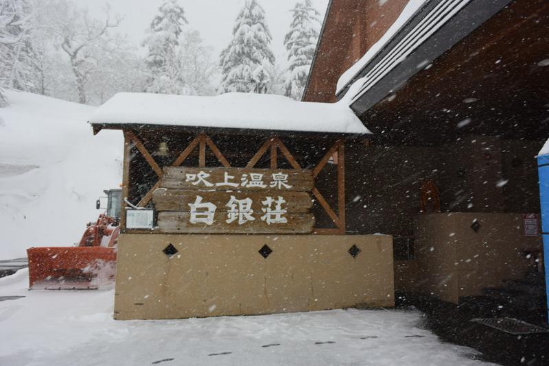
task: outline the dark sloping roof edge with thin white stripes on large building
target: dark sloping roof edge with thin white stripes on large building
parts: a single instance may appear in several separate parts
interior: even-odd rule
[[[513,0],[432,0],[426,3],[340,93],[341,99],[360,78],[369,79],[353,90],[351,109],[358,116],[405,84]],[[465,5],[463,5],[465,3]],[[449,19],[456,7],[461,8]],[[433,29],[435,29],[433,32]],[[432,34],[429,34],[432,32]],[[400,60],[406,51],[413,51]]]

